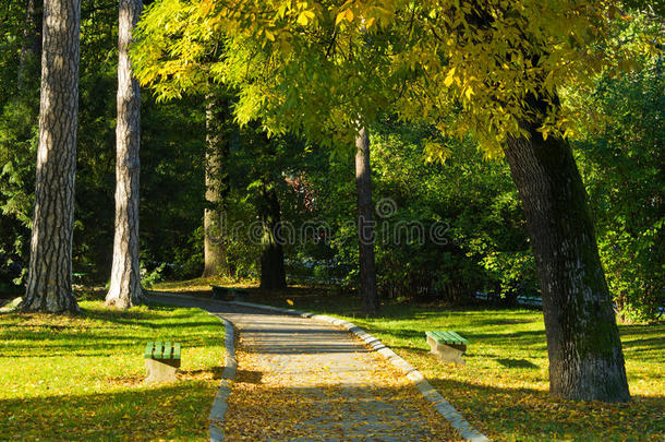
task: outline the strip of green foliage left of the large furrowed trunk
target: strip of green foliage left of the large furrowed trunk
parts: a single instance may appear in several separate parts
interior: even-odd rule
[[[0,51],[0,266],[19,271],[29,260],[43,16],[41,1],[15,2],[3,10],[0,23],[0,32],[7,36]],[[14,276],[4,283],[22,279]],[[16,291],[24,289],[16,287]]]

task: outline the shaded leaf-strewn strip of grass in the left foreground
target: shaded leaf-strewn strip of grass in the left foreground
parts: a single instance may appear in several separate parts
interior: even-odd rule
[[[215,392],[210,383],[184,381],[114,393],[0,399],[0,434],[8,440],[204,440]]]

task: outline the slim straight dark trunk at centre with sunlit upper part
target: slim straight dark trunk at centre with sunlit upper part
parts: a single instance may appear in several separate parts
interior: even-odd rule
[[[358,189],[358,259],[360,262],[360,296],[367,315],[378,312],[376,264],[374,262],[374,220],[372,216],[372,169],[370,135],[362,128],[355,136],[355,186]]]

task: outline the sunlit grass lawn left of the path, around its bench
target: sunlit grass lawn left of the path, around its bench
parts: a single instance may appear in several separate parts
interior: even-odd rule
[[[0,314],[0,440],[207,440],[223,324],[198,309]],[[179,381],[146,385],[148,341],[182,344]]]

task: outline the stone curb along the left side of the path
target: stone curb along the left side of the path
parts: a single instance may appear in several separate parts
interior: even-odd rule
[[[161,292],[155,294],[154,296],[172,299],[201,300],[201,298],[195,298],[193,296],[170,295]],[[233,341],[234,331],[233,324],[231,324],[231,322],[229,322],[227,319],[217,314],[213,314],[210,312],[207,313],[213,316],[219,318],[221,322],[223,322],[226,332],[223,337],[226,356],[223,361],[223,371],[221,372],[221,383],[219,385],[219,390],[217,390],[215,401],[213,402],[210,414],[208,415],[208,433],[210,442],[223,442],[223,416],[228,407],[227,398],[231,393],[230,381],[235,377],[235,371],[238,370],[238,360],[235,359],[235,345]]]

